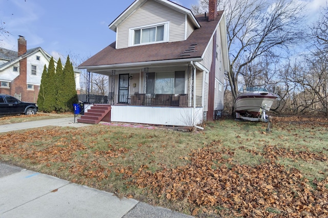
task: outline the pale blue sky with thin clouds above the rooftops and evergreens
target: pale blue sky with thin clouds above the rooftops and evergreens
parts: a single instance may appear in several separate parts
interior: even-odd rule
[[[310,18],[316,17],[326,0],[296,0],[308,3]],[[10,32],[0,35],[0,46],[17,51],[18,35],[25,36],[27,48],[41,47],[58,54],[75,54],[86,59],[116,40],[108,25],[134,0],[0,0],[0,21]],[[198,0],[177,0],[186,8]]]

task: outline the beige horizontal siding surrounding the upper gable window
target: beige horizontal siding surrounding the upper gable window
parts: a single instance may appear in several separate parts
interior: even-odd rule
[[[147,1],[117,27],[116,48],[129,46],[129,28],[169,23],[169,42],[185,40],[185,15],[155,1]]]

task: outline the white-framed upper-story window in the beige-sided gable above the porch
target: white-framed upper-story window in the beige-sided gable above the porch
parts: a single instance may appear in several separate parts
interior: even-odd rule
[[[169,23],[160,23],[130,29],[129,46],[168,42]]]

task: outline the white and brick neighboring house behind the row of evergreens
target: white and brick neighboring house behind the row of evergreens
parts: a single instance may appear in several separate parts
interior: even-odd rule
[[[0,93],[36,103],[44,66],[49,66],[50,58],[51,55],[40,47],[27,49],[24,36],[18,38],[18,52],[0,48]],[[79,72],[74,70],[78,93]]]

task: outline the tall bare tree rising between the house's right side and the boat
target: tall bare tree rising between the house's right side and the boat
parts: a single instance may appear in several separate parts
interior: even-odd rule
[[[201,11],[206,4],[208,1],[200,0],[198,8],[193,6],[194,13]],[[300,42],[303,6],[289,0],[222,0],[218,4],[227,16],[230,57],[227,77],[235,100],[238,77],[249,71],[245,68],[262,58],[281,57],[290,46]]]

